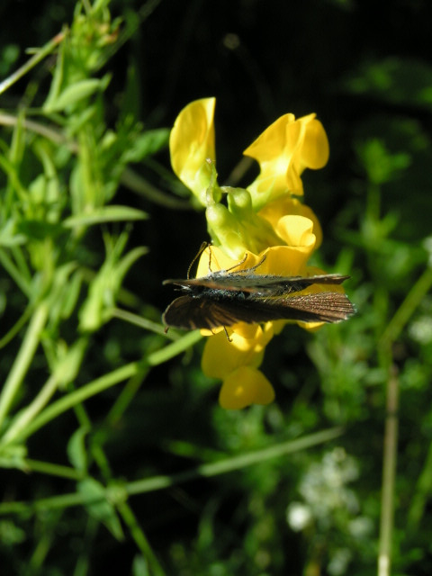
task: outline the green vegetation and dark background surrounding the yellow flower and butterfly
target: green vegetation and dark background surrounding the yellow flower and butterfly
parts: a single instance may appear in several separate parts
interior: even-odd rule
[[[428,1],[0,15],[2,574],[369,575],[391,545],[393,574],[430,574]],[[162,281],[207,238],[169,128],[211,95],[221,183],[280,115],[318,113],[313,264],[351,275],[358,310],[285,328],[275,403],[242,411],[220,409],[200,338],[160,324]]]

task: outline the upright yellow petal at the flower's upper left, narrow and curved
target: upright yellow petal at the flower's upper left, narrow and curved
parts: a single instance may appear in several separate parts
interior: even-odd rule
[[[211,176],[211,166],[206,160],[215,161],[215,102],[215,98],[202,98],[189,103],[178,114],[169,137],[173,170],[203,205]]]

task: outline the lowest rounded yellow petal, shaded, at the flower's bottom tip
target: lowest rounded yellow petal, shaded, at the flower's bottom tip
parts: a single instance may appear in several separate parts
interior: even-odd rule
[[[225,378],[220,389],[220,406],[239,410],[251,404],[270,404],[275,400],[273,386],[266,376],[250,366],[240,366]]]

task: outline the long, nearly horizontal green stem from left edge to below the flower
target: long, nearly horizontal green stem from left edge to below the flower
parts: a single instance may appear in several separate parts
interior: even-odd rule
[[[219,474],[234,472],[246,466],[260,464],[272,458],[292,454],[293,452],[311,448],[311,446],[330,442],[340,437],[343,433],[343,428],[329,428],[328,430],[322,430],[307,437],[297,438],[296,440],[290,440],[275,446],[268,446],[249,454],[232,456],[211,464],[202,464],[183,473],[176,473],[171,476],[154,476],[153,478],[129,482],[123,486],[123,489],[129,496],[132,496],[163,490],[175,484],[189,482],[202,477],[210,478]],[[106,489],[105,497],[110,497],[110,488]],[[28,512],[29,510],[62,509],[72,506],[83,506],[84,504],[93,503],[98,500],[100,499],[89,499],[89,497],[86,497],[81,492],[73,492],[41,500],[32,500],[31,502],[4,502],[0,503],[0,515]]]

